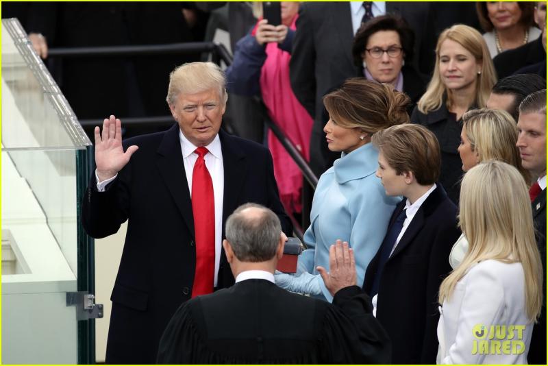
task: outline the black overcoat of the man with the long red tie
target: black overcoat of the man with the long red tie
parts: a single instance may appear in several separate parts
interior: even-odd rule
[[[222,131],[219,137],[225,171],[223,223],[240,204],[255,202],[276,212],[290,234],[269,151]],[[192,293],[192,203],[177,124],[165,132],[130,138],[124,148],[129,145],[138,145],[139,150],[105,192],[97,192],[92,178],[82,202],[82,221],[90,236],[102,238],[129,220],[110,298],[106,362],[154,363],[166,324]],[[233,283],[222,252],[217,285]]]

